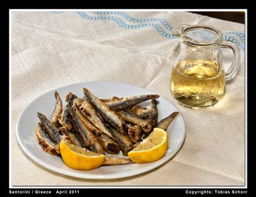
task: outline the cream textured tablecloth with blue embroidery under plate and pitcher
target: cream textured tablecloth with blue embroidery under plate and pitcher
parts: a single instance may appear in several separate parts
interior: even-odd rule
[[[245,185],[245,26],[188,12],[19,12],[11,14],[12,186],[243,186]],[[240,69],[213,108],[178,105],[170,71],[181,23],[215,26],[240,47]],[[233,54],[222,50],[225,69]],[[154,91],[181,111],[186,140],[152,171],[118,180],[77,179],[49,171],[18,146],[18,116],[31,101],[60,86],[119,81]],[[35,115],[36,116],[36,115]]]

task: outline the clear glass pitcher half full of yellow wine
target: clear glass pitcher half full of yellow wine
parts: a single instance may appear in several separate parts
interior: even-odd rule
[[[225,94],[225,81],[232,79],[240,67],[237,45],[223,40],[220,30],[211,26],[181,25],[174,29],[181,40],[178,57],[171,70],[171,92],[183,106],[214,106]],[[234,52],[233,62],[225,72],[221,48]]]

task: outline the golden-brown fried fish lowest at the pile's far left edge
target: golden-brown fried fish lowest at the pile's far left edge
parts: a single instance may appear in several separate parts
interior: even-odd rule
[[[36,128],[36,139],[44,151],[53,155],[60,154],[56,142],[46,133],[46,128],[44,128],[43,123],[38,123]]]

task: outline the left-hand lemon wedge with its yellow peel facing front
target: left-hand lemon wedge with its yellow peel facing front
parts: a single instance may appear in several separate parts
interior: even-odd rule
[[[72,169],[91,170],[100,167],[106,156],[73,145],[68,140],[61,140],[60,154],[63,162]]]

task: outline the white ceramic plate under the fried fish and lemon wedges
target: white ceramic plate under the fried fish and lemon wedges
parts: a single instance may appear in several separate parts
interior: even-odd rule
[[[63,101],[63,106],[65,106],[65,95],[67,95],[69,91],[72,91],[73,94],[82,97],[83,87],[86,87],[92,91],[92,94],[95,94],[102,99],[110,98],[112,96],[124,97],[136,96],[139,94],[157,94],[138,86],[106,81],[73,84],[63,86],[55,90],[60,94]],[[164,157],[158,161],[147,164],[102,166],[91,171],[70,169],[65,166],[60,157],[52,156],[46,152],[43,152],[41,147],[38,145],[35,135],[36,124],[39,122],[37,112],[41,112],[50,118],[55,107],[55,90],[39,96],[38,99],[34,100],[27,106],[27,108],[24,109],[21,116],[18,118],[16,130],[18,143],[23,151],[26,152],[26,154],[28,154],[28,156],[31,157],[31,159],[33,159],[35,162],[52,171],[82,179],[118,179],[127,176],[134,176],[159,167],[161,164],[167,162],[169,159],[171,159],[171,157],[174,156],[174,154],[176,154],[176,152],[178,152],[185,139],[185,123],[181,113],[179,113],[176,119],[171,123],[171,125],[169,125],[167,130],[169,135],[169,149]],[[159,110],[159,120],[169,116],[169,114],[174,111],[178,111],[174,104],[164,99],[163,96],[160,96],[157,100],[159,101],[157,105]],[[149,101],[144,102],[143,105],[148,106]]]

